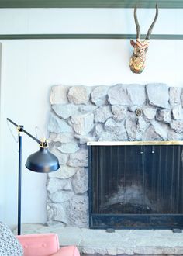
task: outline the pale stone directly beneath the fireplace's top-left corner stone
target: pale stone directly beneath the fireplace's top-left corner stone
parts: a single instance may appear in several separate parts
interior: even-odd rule
[[[54,112],[57,114],[57,116],[60,116],[63,119],[67,119],[78,112],[78,106],[74,104],[55,104],[52,106],[52,109],[54,109]]]

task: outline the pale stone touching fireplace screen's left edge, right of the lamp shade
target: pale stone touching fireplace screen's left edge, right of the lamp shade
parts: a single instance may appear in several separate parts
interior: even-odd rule
[[[75,154],[71,154],[67,165],[73,167],[88,167],[88,149],[81,148]]]

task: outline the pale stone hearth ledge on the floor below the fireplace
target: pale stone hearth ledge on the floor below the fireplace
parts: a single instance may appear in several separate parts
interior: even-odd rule
[[[58,234],[60,246],[75,244],[84,255],[183,255],[183,233],[173,233],[171,230],[116,230],[107,233],[105,230],[60,225],[22,225],[22,234],[48,232]]]

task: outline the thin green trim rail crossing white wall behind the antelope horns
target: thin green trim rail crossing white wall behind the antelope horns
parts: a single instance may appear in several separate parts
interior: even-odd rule
[[[144,39],[146,35],[141,35]],[[136,34],[19,34],[0,35],[0,40],[45,40],[45,39],[136,39]],[[183,40],[183,35],[151,35],[155,40]]]

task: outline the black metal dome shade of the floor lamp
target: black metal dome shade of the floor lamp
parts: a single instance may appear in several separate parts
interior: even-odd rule
[[[57,171],[60,166],[57,157],[51,154],[47,147],[40,147],[39,151],[27,158],[26,168],[31,171],[48,173]]]

